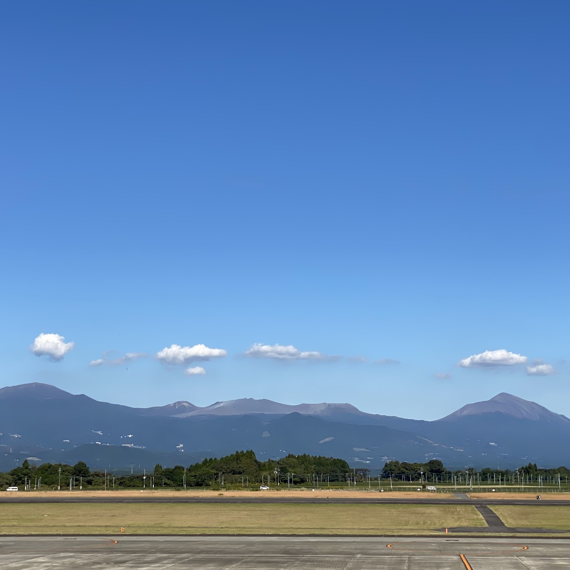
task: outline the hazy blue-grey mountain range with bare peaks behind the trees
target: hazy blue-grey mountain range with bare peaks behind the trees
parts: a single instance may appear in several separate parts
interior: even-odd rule
[[[390,459],[441,459],[457,468],[557,467],[570,464],[569,437],[567,417],[507,393],[423,421],[368,414],[351,404],[242,398],[205,407],[178,401],[131,408],[37,382],[0,389],[0,471],[25,458],[149,469],[242,449],[262,459],[340,457],[372,471]]]

